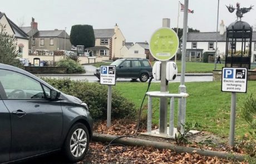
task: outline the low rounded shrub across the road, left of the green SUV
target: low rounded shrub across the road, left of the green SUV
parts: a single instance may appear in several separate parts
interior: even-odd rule
[[[56,63],[57,67],[67,67],[67,73],[84,73],[85,69],[81,64],[72,59],[62,59]]]

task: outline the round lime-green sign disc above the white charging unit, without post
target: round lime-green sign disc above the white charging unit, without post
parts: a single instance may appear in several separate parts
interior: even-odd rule
[[[175,56],[179,48],[179,37],[171,28],[157,29],[151,36],[149,49],[159,61],[168,61]]]

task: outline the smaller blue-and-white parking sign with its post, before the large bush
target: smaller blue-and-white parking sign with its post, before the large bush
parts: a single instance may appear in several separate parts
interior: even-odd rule
[[[107,127],[110,127],[112,86],[116,85],[116,66],[100,66],[100,84],[109,86],[107,91]]]

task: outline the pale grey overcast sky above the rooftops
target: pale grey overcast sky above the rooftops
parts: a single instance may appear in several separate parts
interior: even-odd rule
[[[236,20],[235,12],[229,13],[225,4],[240,2],[241,7],[254,5],[254,10],[244,14],[243,21],[256,24],[255,0],[220,0],[219,21],[226,26]],[[184,0],[181,0],[184,3]],[[22,0],[2,1],[0,11],[6,13],[17,25],[30,26],[35,18],[39,30],[65,29],[70,34],[74,24],[90,24],[94,29],[119,26],[126,42],[149,41],[151,34],[162,26],[163,18],[171,19],[171,27],[177,26],[178,0]],[[188,26],[201,32],[216,31],[218,0],[190,0]],[[183,26],[180,12],[179,27]]]

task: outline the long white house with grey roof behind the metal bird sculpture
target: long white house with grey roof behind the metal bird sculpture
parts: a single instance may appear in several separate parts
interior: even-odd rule
[[[224,23],[220,24],[220,31],[218,32],[218,44],[217,54],[220,57],[225,56],[226,48],[226,27]],[[247,43],[249,45],[249,43]],[[229,49],[231,49],[229,44]],[[247,45],[247,47],[249,47]],[[241,42],[237,42],[237,49],[242,46]],[[215,56],[216,48],[216,32],[188,32],[188,38],[186,42],[186,60],[187,61],[201,61],[204,52],[208,52],[210,56]],[[252,36],[252,56],[251,62],[256,62],[256,32],[253,32]]]

